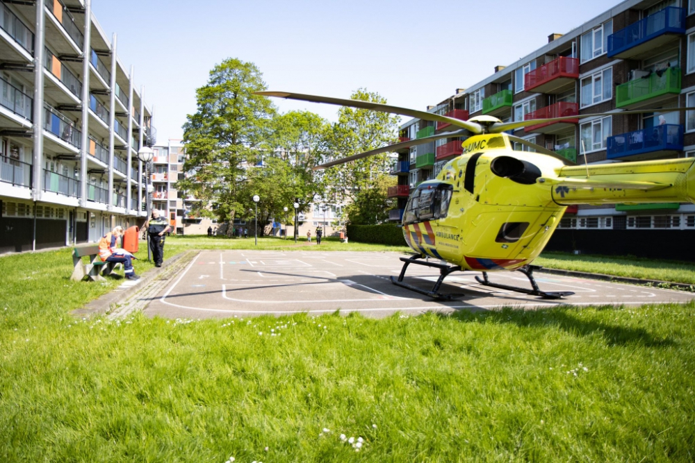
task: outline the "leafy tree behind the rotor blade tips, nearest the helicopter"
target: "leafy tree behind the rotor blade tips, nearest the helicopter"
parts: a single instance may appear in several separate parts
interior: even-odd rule
[[[378,93],[359,89],[352,99],[386,103]],[[330,151],[339,158],[381,148],[398,141],[397,116],[358,108],[343,107],[338,122],[332,126],[328,143]],[[377,224],[388,218],[389,201],[386,186],[391,162],[386,153],[370,156],[331,167],[325,181],[332,194],[349,203],[344,214],[351,224]]]

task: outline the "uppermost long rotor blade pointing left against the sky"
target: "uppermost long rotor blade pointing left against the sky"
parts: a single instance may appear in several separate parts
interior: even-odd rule
[[[451,124],[452,126],[465,128],[466,130],[474,134],[479,134],[483,131],[480,124],[476,124],[475,122],[461,121],[461,119],[440,116],[438,114],[432,114],[431,112],[418,111],[409,108],[400,108],[398,106],[389,106],[384,105],[382,103],[372,103],[371,101],[331,98],[329,96],[305,95],[301,93],[291,92],[254,92],[254,94],[263,96],[275,96],[276,98],[286,98],[291,100],[311,101],[313,103],[328,103],[338,106],[350,106],[351,108],[367,109],[379,112],[390,112],[392,114],[416,117],[425,121],[444,122],[446,124]]]

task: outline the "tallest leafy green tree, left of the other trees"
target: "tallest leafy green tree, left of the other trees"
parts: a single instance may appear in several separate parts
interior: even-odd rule
[[[197,112],[186,116],[183,125],[188,154],[183,168],[195,174],[177,184],[202,200],[193,213],[205,214],[202,211],[214,201],[218,217],[231,221],[243,208],[239,201],[247,180],[243,163],[255,164],[268,150],[276,115],[268,98],[253,94],[265,89],[256,65],[228,58],[215,65],[208,83],[196,90]]]

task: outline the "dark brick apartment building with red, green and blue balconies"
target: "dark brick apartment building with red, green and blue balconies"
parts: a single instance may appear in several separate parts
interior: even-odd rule
[[[685,106],[695,106],[695,0],[627,0],[569,33],[550,34],[543,47],[495,67],[483,81],[457,89],[427,110],[462,120],[490,115],[502,121],[610,112],[511,132],[579,164],[592,164],[692,157],[695,112],[686,112],[684,119],[673,111]],[[621,115],[644,108],[657,111]],[[433,135],[447,125],[414,119],[400,127],[400,140]],[[402,218],[411,188],[434,178],[460,154],[457,138],[400,150],[391,172],[398,186],[389,191],[398,208],[390,219]],[[695,205],[582,206],[568,208],[548,249],[641,249],[664,255],[674,237],[694,241]],[[655,240],[662,246],[653,245]]]

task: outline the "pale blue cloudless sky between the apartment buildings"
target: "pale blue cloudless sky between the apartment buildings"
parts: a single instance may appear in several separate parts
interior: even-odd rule
[[[135,66],[163,143],[183,136],[195,89],[225,58],[254,62],[269,90],[347,98],[363,87],[424,110],[617,3],[92,0],[92,10]],[[336,120],[334,106],[275,103]]]

